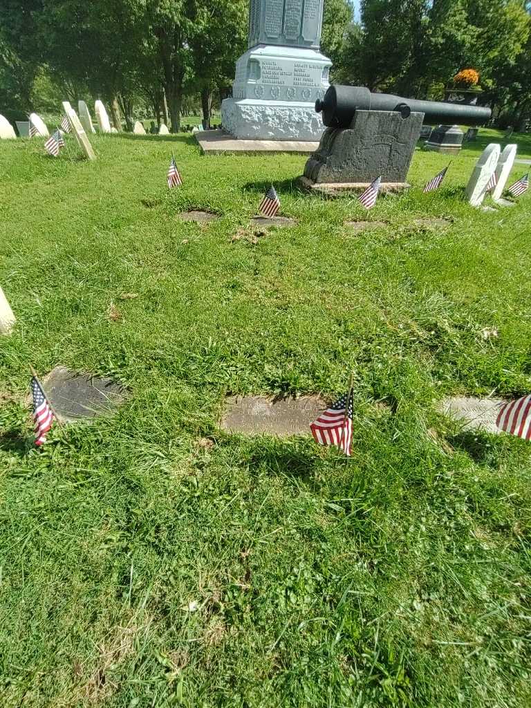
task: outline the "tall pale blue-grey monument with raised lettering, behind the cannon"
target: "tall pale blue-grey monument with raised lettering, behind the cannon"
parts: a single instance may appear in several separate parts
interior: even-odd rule
[[[250,0],[249,50],[236,62],[222,123],[235,137],[319,140],[314,104],[329,86],[319,52],[323,0]]]

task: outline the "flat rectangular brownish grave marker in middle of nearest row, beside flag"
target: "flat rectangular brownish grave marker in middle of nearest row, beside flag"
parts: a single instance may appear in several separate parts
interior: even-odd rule
[[[227,401],[220,428],[244,435],[310,435],[310,423],[326,409],[319,396],[273,399],[265,396],[234,396]]]

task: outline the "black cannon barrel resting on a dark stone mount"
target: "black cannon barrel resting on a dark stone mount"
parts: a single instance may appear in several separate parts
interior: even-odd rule
[[[407,118],[410,113],[424,113],[429,125],[481,125],[491,117],[490,108],[439,101],[415,101],[413,98],[392,96],[391,93],[371,93],[363,86],[332,84],[315,110],[323,114],[327,127],[348,128],[356,110],[392,110]]]

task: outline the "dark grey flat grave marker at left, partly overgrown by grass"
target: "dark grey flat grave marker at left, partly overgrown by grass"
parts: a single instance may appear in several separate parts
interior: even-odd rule
[[[42,387],[59,421],[74,423],[111,413],[123,403],[127,390],[111,379],[56,366],[42,379]]]

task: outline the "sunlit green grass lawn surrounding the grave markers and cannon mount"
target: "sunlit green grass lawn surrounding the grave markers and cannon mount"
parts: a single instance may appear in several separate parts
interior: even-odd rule
[[[531,448],[438,412],[531,389],[531,199],[462,200],[501,135],[430,195],[449,159],[416,151],[413,188],[371,212],[300,192],[302,155],[2,142],[3,708],[530,704]],[[271,181],[298,224],[254,230]],[[30,364],[130,396],[38,451]],[[219,432],[230,394],[332,398],[350,371],[350,460]]]

